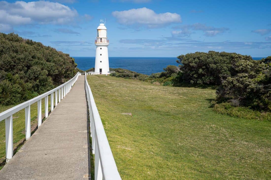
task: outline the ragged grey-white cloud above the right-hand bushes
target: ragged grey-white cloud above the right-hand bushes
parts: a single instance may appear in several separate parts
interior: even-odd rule
[[[201,23],[196,23],[192,25],[184,25],[184,26],[175,26],[173,27],[173,29],[182,29],[182,31],[172,31],[172,35],[174,35],[173,32],[175,32],[175,34],[177,35],[178,35],[177,32],[179,32],[179,35],[190,36],[192,32],[189,30],[194,30],[194,31],[203,31],[204,35],[209,36],[209,37],[223,34],[229,30],[229,28],[225,28],[225,27],[215,28],[213,26],[207,26]]]

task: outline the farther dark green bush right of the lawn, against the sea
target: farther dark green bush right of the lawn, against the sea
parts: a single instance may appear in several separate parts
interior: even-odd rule
[[[239,61],[252,62],[251,56],[228,52],[195,52],[177,57],[180,63],[179,82],[221,85],[227,77],[237,74]]]

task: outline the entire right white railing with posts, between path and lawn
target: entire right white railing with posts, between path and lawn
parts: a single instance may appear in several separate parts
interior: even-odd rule
[[[119,180],[121,177],[110,149],[91,89],[88,85],[88,81],[86,80],[86,76],[85,90],[88,101],[92,153],[95,154],[95,180]]]

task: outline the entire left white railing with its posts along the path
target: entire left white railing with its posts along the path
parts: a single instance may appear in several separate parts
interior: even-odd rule
[[[14,106],[4,112],[0,113],[0,121],[5,119],[6,127],[6,162],[8,162],[13,156],[13,122],[12,115],[21,109],[25,109],[25,139],[29,139],[31,136],[31,122],[30,122],[30,105],[37,102],[38,104],[38,127],[41,125],[41,99],[45,99],[45,118],[48,117],[48,96],[51,95],[51,111],[57,105],[57,102],[60,102],[66,94],[70,91],[74,83],[76,82],[78,76],[81,75],[78,72],[72,79],[65,82],[64,84],[48,91],[44,94],[41,94],[33,99],[30,99],[26,102],[23,102],[17,106]],[[55,94],[55,101],[54,101]],[[55,103],[54,103],[55,102]]]

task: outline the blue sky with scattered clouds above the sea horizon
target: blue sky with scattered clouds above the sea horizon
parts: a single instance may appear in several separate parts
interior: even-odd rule
[[[0,32],[71,56],[95,56],[106,18],[109,56],[176,57],[209,50],[271,55],[271,1],[0,1]]]

